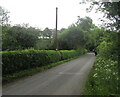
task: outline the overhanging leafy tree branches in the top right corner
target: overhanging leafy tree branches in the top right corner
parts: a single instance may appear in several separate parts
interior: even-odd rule
[[[91,11],[93,7],[97,5],[97,11],[102,11],[104,17],[109,19],[108,23],[105,23],[107,27],[120,31],[120,2],[93,2],[88,11]],[[115,29],[114,29],[115,28]]]

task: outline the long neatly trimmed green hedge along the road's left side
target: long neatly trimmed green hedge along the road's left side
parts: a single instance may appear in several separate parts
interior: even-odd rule
[[[11,73],[41,67],[50,63],[66,60],[79,56],[81,53],[75,50],[22,50],[2,52],[2,74]]]

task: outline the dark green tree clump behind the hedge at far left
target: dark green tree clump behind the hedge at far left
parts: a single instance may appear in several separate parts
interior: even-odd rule
[[[40,31],[38,29],[20,26],[2,27],[2,49],[19,50],[34,47],[38,40]]]

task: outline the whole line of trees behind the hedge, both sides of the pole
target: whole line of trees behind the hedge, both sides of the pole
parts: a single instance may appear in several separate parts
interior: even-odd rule
[[[0,8],[3,13],[4,21],[2,26],[2,50],[24,50],[34,48],[38,50],[58,49],[72,50],[79,48],[87,48],[93,50],[97,45],[97,38],[100,33],[94,33],[95,30],[101,30],[92,23],[89,17],[78,18],[77,22],[69,26],[67,29],[62,28],[58,31],[58,39],[55,38],[55,30],[46,27],[43,31],[30,27],[29,24],[11,26],[7,24],[9,21],[7,11]],[[98,31],[102,32],[102,31]],[[95,35],[94,35],[95,34]]]

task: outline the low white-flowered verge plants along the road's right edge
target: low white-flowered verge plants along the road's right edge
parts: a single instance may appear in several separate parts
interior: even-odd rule
[[[120,97],[118,62],[97,56],[86,81],[83,95]]]

